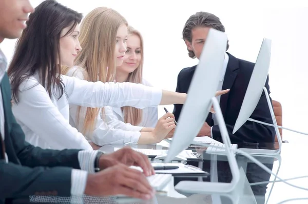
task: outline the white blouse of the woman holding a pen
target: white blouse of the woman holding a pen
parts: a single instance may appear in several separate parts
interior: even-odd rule
[[[73,67],[66,73],[66,75],[84,79],[83,72],[84,70],[82,68]],[[70,104],[69,107],[70,125],[74,128],[78,128],[81,131],[84,125],[86,108],[81,109],[79,124],[76,126],[78,106]],[[121,108],[119,109],[121,110]],[[153,107],[153,109],[157,109],[157,107]],[[113,114],[112,107],[110,106],[104,107],[104,111],[105,117],[103,116],[102,111],[100,111],[99,115],[97,116],[93,132],[85,135],[88,140],[91,140],[100,146],[106,144],[125,144],[126,142],[138,142],[141,135],[140,131],[146,126],[132,126],[131,124],[124,123]],[[105,118],[105,120],[103,120],[103,118]]]

